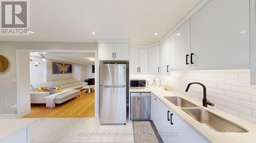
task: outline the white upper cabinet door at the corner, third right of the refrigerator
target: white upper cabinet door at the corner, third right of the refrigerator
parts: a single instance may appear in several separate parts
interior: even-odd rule
[[[148,48],[148,73],[159,74],[160,73],[160,46]]]

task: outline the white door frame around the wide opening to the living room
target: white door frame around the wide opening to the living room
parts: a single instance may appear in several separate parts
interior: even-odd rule
[[[23,105],[21,105],[21,103],[24,104],[24,102],[26,102],[26,104],[29,104],[30,107],[30,101],[24,101],[23,98],[20,98],[21,95],[19,93],[19,91],[25,91],[25,94],[23,96],[29,96],[30,99],[30,94],[26,94],[26,93],[30,93],[30,87],[24,87],[24,85],[22,86],[22,83],[25,81],[28,82],[28,79],[24,79],[21,78],[22,75],[20,75],[20,73],[18,72],[21,67],[22,67],[22,63],[19,62],[19,57],[22,54],[25,54],[25,56],[28,55],[28,59],[29,59],[29,54],[30,52],[67,52],[67,53],[87,53],[87,52],[94,52],[94,56],[95,56],[95,118],[99,117],[99,89],[98,89],[98,84],[99,84],[99,60],[98,60],[98,50],[61,50],[61,49],[16,49],[16,88],[17,88],[17,118],[22,118],[26,115],[29,115],[31,112],[31,109],[28,108],[28,105],[26,105],[27,107],[25,107],[25,109],[23,109]],[[29,74],[29,69],[28,73]]]

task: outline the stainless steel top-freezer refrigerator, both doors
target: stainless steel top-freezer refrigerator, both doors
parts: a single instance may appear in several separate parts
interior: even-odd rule
[[[100,124],[126,124],[126,65],[99,66]]]

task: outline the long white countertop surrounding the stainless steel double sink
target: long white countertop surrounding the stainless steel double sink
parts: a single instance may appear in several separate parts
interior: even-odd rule
[[[198,130],[202,135],[204,135],[206,138],[208,138],[211,142],[256,142],[256,125],[253,125],[251,123],[248,123],[244,120],[241,120],[237,117],[231,116],[226,112],[223,112],[217,108],[208,106],[203,107],[202,103],[199,101],[189,98],[187,96],[184,96],[180,93],[174,92],[174,91],[166,91],[163,90],[163,87],[156,87],[156,86],[149,86],[145,89],[130,89],[130,92],[152,92],[154,95],[156,95],[164,104],[169,106],[173,111],[177,113],[178,116],[180,116],[182,119],[184,119],[185,122],[189,123],[192,127],[194,127],[196,130]],[[206,109],[212,113],[215,113],[216,115],[234,123],[237,124],[244,129],[246,129],[247,133],[233,133],[233,132],[217,132],[214,130],[211,130],[204,126],[203,124],[199,123],[187,113],[182,111],[179,107],[175,106],[173,103],[169,102],[164,97],[166,96],[178,96],[181,97],[191,103],[196,104],[198,107],[201,107],[203,109]]]

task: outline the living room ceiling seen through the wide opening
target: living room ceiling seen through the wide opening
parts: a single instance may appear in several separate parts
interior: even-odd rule
[[[46,59],[70,62],[82,65],[92,65],[93,61],[89,59],[95,59],[94,52],[86,53],[63,53],[63,52],[30,52],[30,56],[40,57],[40,54],[44,54]]]

